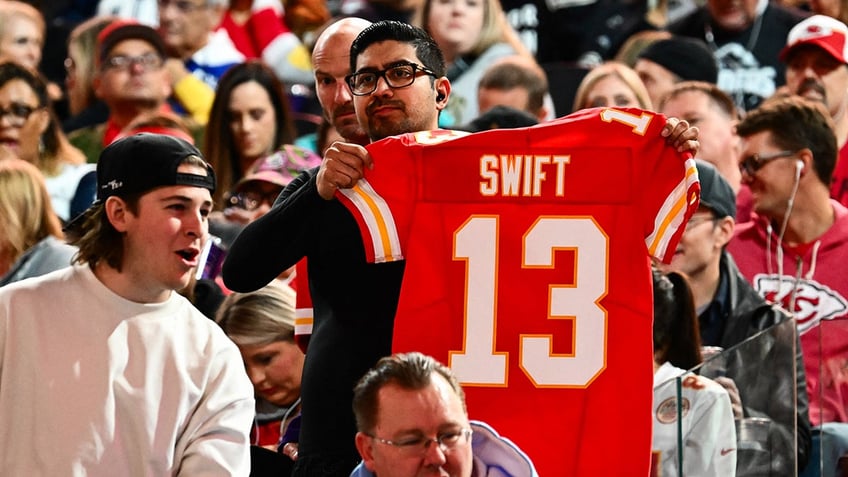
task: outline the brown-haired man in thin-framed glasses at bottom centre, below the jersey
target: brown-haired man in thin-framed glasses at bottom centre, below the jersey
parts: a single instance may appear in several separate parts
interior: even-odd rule
[[[421,353],[382,358],[353,391],[362,455],[355,477],[447,473],[534,477],[530,459],[482,422],[468,420],[465,393],[450,369]]]

